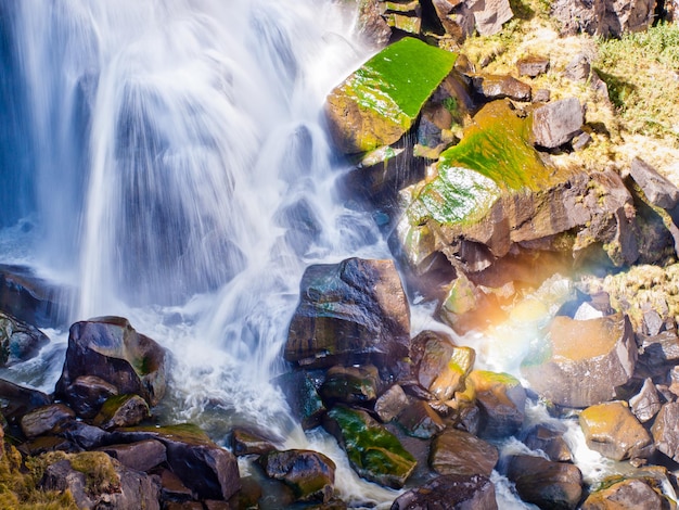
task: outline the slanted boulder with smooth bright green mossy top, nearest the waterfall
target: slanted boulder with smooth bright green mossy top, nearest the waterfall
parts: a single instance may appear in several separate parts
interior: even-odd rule
[[[325,103],[340,150],[361,153],[396,142],[450,73],[456,58],[418,39],[403,38],[366,62],[330,92]]]

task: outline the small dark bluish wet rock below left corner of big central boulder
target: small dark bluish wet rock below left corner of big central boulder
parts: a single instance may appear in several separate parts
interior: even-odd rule
[[[320,425],[325,406],[313,380],[306,371],[287,372],[276,378],[273,382],[285,394],[293,416],[297,418],[305,431]]]

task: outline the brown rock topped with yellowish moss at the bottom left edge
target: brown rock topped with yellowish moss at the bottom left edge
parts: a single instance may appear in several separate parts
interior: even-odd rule
[[[161,509],[157,480],[101,451],[71,455],[44,470],[44,490],[69,490],[78,508]]]

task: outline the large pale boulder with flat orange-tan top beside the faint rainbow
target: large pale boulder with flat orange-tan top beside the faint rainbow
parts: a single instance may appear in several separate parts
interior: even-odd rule
[[[611,400],[635,372],[637,344],[627,316],[589,320],[559,316],[521,371],[533,390],[565,407]]]

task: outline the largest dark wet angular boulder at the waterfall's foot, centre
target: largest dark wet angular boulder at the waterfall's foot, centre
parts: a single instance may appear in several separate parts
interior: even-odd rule
[[[409,331],[408,301],[393,260],[310,266],[284,357],[309,368],[388,366],[408,355]]]

